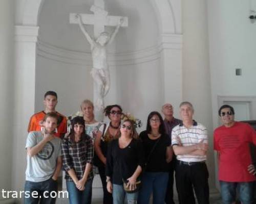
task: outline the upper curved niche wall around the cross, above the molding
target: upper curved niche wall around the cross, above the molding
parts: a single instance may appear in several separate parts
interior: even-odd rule
[[[59,6],[61,5],[61,7]],[[38,19],[39,39],[42,42],[67,50],[90,52],[90,45],[77,24],[69,23],[69,13],[87,13],[93,1],[46,0]],[[110,53],[133,52],[157,45],[159,27],[155,11],[147,0],[105,1],[109,15],[127,16],[129,27],[120,28],[114,42],[109,46]],[[93,36],[93,26],[86,27]],[[106,27],[108,32],[113,32]]]

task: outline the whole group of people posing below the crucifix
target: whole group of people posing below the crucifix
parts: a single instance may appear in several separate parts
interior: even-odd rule
[[[82,116],[71,119],[67,133],[67,118],[55,110],[57,102],[56,92],[46,92],[45,110],[29,122],[25,191],[40,196],[26,196],[25,203],[55,203],[44,192],[57,191],[61,168],[70,203],[91,203],[95,166],[104,204],[147,204],[152,194],[154,204],[175,203],[174,172],[180,204],[194,204],[196,199],[209,203],[208,135],[206,127],[193,119],[191,103],[180,104],[181,120],[174,117],[171,104],[164,104],[164,118],[151,112],[146,130],[138,135],[133,120],[122,120],[119,105],[104,109],[108,123],[96,121],[90,100],[82,101]],[[256,134],[250,125],[234,121],[228,105],[220,108],[219,116],[223,125],[214,132],[214,149],[223,203],[234,203],[237,189],[243,204],[252,203],[256,171],[248,144],[256,144]]]

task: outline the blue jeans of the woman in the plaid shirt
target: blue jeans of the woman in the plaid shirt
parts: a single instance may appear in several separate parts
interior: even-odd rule
[[[80,191],[76,188],[76,185],[73,181],[66,181],[67,190],[69,192],[69,202],[70,204],[91,204],[92,202],[92,184],[93,180],[89,180],[84,185],[84,190]]]

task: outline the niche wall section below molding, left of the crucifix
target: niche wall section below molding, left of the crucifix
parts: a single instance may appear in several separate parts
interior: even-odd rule
[[[56,110],[66,116],[79,110],[82,100],[93,100],[90,67],[68,64],[37,56],[35,83],[35,111],[44,110],[42,100],[48,90],[58,94]]]

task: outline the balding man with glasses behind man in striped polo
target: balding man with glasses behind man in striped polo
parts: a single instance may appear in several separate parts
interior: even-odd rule
[[[166,134],[172,139],[173,128],[181,123],[181,120],[174,117],[172,104],[166,103],[162,106],[162,113],[164,114],[164,126]],[[169,179],[165,195],[166,204],[175,204],[174,202],[174,169],[176,157],[173,156],[172,161],[169,163]]]

